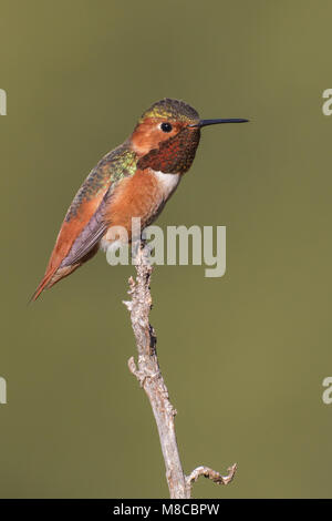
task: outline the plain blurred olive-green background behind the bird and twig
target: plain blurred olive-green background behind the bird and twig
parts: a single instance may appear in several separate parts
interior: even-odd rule
[[[0,6],[0,496],[167,497],[148,401],[128,372],[134,269],[104,255],[32,306],[92,166],[172,96],[203,118],[158,224],[227,226],[227,273],[160,266],[152,323],[185,470],[238,462],[196,498],[331,497],[329,1],[7,1]]]

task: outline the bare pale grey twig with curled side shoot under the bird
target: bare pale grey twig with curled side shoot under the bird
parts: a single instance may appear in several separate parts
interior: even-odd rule
[[[152,308],[149,283],[153,267],[148,262],[148,253],[143,242],[137,249],[135,264],[137,273],[136,282],[133,277],[129,278],[128,294],[132,299],[124,302],[124,304],[131,313],[138,360],[136,366],[134,357],[129,358],[128,368],[145,390],[154,412],[170,498],[188,499],[191,494],[191,486],[199,476],[205,476],[219,484],[227,484],[234,478],[236,464],[228,469],[229,474],[226,477],[208,467],[197,467],[189,477],[185,476],[175,435],[174,418],[176,410],[169,401],[168,390],[159,369],[156,353],[157,338],[148,320]]]

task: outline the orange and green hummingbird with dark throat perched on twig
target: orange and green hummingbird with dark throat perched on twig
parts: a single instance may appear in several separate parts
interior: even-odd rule
[[[107,249],[112,226],[124,226],[131,241],[133,217],[144,229],[160,214],[190,168],[204,126],[245,123],[243,119],[200,120],[184,101],[165,98],[138,120],[132,135],[107,153],[76,193],[60,228],[45,274],[32,300]]]

